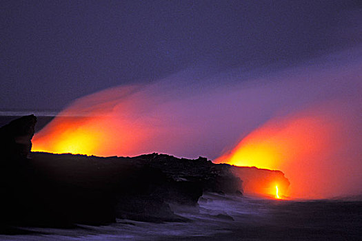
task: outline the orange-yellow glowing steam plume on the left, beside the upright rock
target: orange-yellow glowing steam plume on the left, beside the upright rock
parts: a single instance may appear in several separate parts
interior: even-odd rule
[[[139,106],[130,101],[134,87],[119,87],[81,98],[34,135],[32,151],[130,156],[150,138],[147,119],[137,120]],[[135,95],[133,98],[137,98]],[[145,150],[147,151],[147,150]]]

